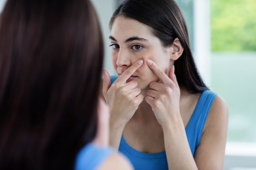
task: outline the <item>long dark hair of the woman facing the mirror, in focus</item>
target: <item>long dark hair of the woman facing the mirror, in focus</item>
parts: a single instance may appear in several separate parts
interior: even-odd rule
[[[195,66],[186,22],[174,0],[125,0],[113,13],[110,29],[117,16],[150,26],[153,35],[159,38],[164,47],[171,46],[175,38],[179,38],[184,51],[174,63],[178,83],[184,85],[190,93],[201,93],[208,89]]]

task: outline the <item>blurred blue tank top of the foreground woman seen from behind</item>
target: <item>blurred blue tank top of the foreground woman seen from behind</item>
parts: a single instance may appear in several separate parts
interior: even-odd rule
[[[114,152],[115,150],[112,147],[103,147],[89,143],[77,154],[74,169],[95,170]]]

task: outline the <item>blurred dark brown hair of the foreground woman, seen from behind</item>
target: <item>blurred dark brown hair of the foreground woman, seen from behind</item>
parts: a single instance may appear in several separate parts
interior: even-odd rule
[[[8,0],[0,23],[0,169],[73,169],[96,134],[103,39],[89,0]]]

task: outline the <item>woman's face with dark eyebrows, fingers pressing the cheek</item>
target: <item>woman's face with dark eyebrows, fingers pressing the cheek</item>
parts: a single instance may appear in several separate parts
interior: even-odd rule
[[[139,59],[143,59],[144,63],[129,80],[136,80],[141,90],[147,88],[150,82],[159,80],[148,67],[147,59],[155,62],[168,75],[174,63],[171,60],[172,48],[164,48],[160,40],[150,32],[149,26],[118,16],[112,24],[109,38],[113,48],[112,65],[118,76]]]

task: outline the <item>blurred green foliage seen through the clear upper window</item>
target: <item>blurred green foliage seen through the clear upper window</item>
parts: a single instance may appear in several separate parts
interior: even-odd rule
[[[256,51],[255,0],[211,0],[211,51]]]

